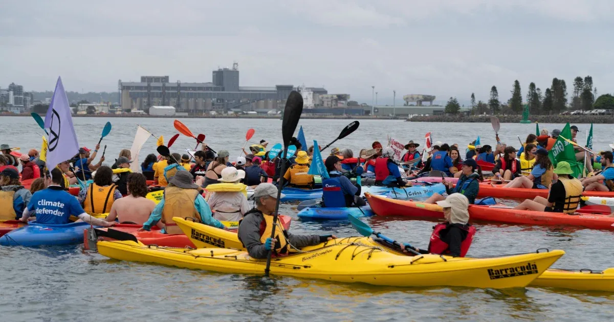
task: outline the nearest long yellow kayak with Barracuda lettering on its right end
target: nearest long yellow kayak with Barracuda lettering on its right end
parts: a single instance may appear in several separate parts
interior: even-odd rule
[[[368,237],[329,240],[274,258],[270,274],[383,286],[524,287],[564,255],[562,250],[489,258],[405,256],[376,247]],[[228,274],[262,275],[266,259],[228,248],[166,248],[130,240],[98,242],[98,252],[123,261],[157,263]]]

